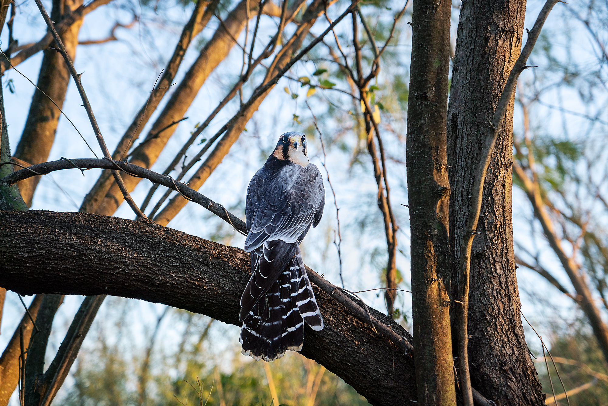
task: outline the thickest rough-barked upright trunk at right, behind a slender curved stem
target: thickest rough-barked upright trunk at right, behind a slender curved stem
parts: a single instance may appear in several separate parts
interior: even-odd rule
[[[519,56],[525,0],[462,4],[448,108],[452,253],[459,254],[469,196],[491,119]],[[469,293],[472,386],[497,404],[541,405],[544,394],[520,317],[511,214],[513,99],[488,167],[473,241]],[[457,264],[458,258],[453,263]],[[453,273],[457,287],[457,272]],[[456,294],[454,290],[453,295]]]

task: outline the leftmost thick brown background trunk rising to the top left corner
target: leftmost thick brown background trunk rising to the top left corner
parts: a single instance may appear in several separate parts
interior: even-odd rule
[[[82,0],[54,0],[51,18],[60,23],[64,16],[71,15],[80,5],[82,5]],[[76,56],[78,32],[82,23],[82,18],[77,19],[69,29],[61,34],[61,40],[72,60]],[[55,141],[55,131],[57,131],[61,115],[59,109],[63,108],[69,82],[70,72],[67,70],[61,54],[57,49],[45,49],[38,75],[38,88],[34,91],[26,125],[15,150],[16,158],[26,161],[30,165],[49,160],[50,149]],[[40,177],[36,176],[19,183],[19,191],[28,207],[32,206],[32,198],[38,181],[40,181]]]

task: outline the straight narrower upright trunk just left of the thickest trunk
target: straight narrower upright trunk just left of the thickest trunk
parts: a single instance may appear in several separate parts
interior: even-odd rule
[[[456,405],[446,135],[451,9],[451,2],[420,0],[412,12],[406,155],[412,320],[418,404],[429,406]]]

